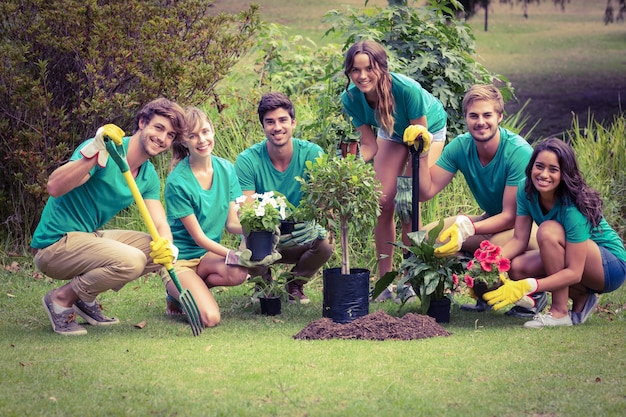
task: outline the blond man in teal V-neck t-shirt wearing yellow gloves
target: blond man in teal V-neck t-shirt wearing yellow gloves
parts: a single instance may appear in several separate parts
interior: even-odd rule
[[[437,256],[452,256],[459,251],[473,254],[483,240],[503,246],[513,237],[517,186],[526,176],[526,165],[533,152],[524,138],[500,126],[504,99],[497,87],[472,86],[463,98],[463,115],[468,132],[452,140],[435,165],[428,168],[427,164],[420,164],[420,201],[433,198],[460,171],[483,214],[445,219],[438,238],[444,245],[435,250]],[[430,230],[437,223],[424,229]],[[528,249],[536,248],[533,233]],[[545,308],[547,296],[537,293],[534,301],[533,309],[516,306],[507,313],[532,317]],[[461,308],[484,311],[489,306],[479,299],[475,306],[464,304]]]

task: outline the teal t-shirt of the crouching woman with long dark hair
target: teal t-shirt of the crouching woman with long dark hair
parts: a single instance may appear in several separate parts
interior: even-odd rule
[[[518,216],[530,216],[537,225],[546,220],[559,222],[565,229],[566,241],[580,243],[591,239],[598,246],[606,248],[619,259],[626,261],[624,243],[604,217],[597,227],[592,228],[587,218],[574,204],[564,204],[562,200],[557,201],[554,207],[544,214],[539,205],[537,192],[533,193],[530,200],[526,197],[526,192],[524,191],[525,184],[525,180],[521,181],[517,189]]]

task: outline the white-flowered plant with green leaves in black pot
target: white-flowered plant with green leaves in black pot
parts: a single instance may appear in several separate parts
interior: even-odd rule
[[[241,196],[235,200],[244,234],[248,235],[251,231],[275,231],[280,221],[287,217],[287,199],[273,191],[255,193],[251,198],[252,201],[246,201],[248,197]]]

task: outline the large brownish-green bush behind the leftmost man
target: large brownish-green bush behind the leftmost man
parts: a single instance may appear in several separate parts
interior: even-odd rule
[[[127,133],[164,96],[206,102],[249,49],[258,7],[212,14],[206,0],[0,3],[0,223],[31,235],[50,172],[98,126]]]

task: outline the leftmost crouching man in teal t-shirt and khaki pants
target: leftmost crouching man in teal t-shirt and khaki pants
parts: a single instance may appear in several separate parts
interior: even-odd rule
[[[96,297],[172,262],[176,249],[160,200],[161,183],[149,159],[168,150],[184,131],[182,108],[167,99],[146,104],[130,137],[108,124],[81,144],[48,180],[50,198],[31,246],[35,265],[47,276],[69,281],[49,291],[43,306],[56,333],[82,335],[78,314],[91,325],[118,323],[102,314]],[[130,172],[161,238],[132,230],[102,230],[134,198],[120,168],[108,158],[104,138],[122,142]]]

